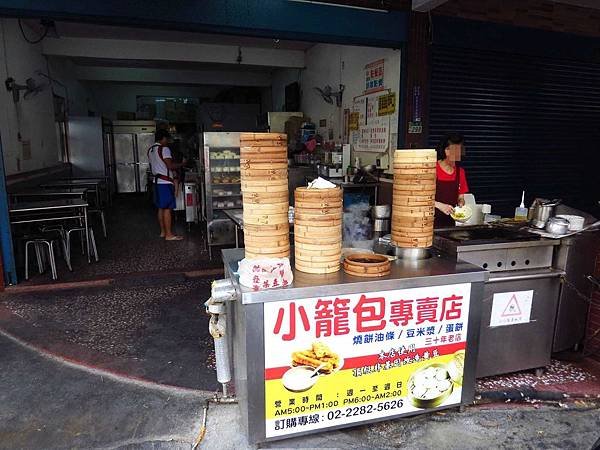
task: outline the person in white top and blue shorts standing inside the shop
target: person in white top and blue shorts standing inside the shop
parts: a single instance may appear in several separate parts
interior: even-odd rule
[[[148,161],[154,177],[154,204],[158,208],[160,237],[166,241],[180,241],[183,237],[173,234],[171,230],[171,211],[176,207],[173,172],[183,167],[186,161],[173,161],[171,149],[167,147],[170,137],[167,130],[160,129],[156,132],[156,142],[148,149]]]

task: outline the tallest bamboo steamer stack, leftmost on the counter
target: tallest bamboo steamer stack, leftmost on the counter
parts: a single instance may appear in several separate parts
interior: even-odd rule
[[[289,257],[286,135],[241,133],[240,174],[246,258]]]

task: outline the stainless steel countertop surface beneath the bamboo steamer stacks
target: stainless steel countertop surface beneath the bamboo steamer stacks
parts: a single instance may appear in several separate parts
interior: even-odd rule
[[[292,249],[292,255],[294,253]],[[237,283],[237,265],[244,257],[244,249],[223,250],[226,277],[235,281],[243,304],[294,300],[330,294],[353,294],[365,291],[385,291],[453,283],[484,282],[489,273],[473,264],[455,258],[435,255],[420,261],[392,261],[391,273],[382,278],[359,278],[343,270],[327,275],[313,275],[293,269],[294,282],[286,288],[254,292]],[[293,267],[293,256],[291,259]]]

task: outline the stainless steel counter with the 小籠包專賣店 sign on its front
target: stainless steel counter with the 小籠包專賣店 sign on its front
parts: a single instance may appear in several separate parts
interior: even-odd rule
[[[231,335],[233,377],[240,407],[241,424],[247,432],[249,442],[257,443],[317,431],[322,432],[356,426],[394,417],[455,407],[473,401],[481,302],[484,282],[488,279],[488,272],[484,269],[469,263],[457,262],[456,258],[435,256],[421,261],[392,261],[391,274],[376,280],[352,277],[346,275],[342,270],[329,275],[312,275],[294,270],[294,281],[289,287],[253,292],[239,285],[236,271],[238,262],[243,256],[243,249],[223,250],[225,276],[232,280],[237,293],[237,299],[227,302],[227,329],[230,330]],[[412,290],[410,288],[417,289]],[[368,363],[357,363],[356,361],[364,359],[364,355],[374,355],[375,358],[379,355],[381,358],[383,349],[389,352],[389,355],[392,355],[395,349],[399,349],[403,345],[409,347],[411,342],[416,342],[412,341],[412,337],[409,336],[409,331],[416,331],[414,329],[409,330],[409,328],[420,323],[416,322],[416,311],[414,319],[411,313],[410,323],[398,323],[394,326],[389,325],[391,322],[388,322],[388,326],[392,328],[385,328],[385,331],[388,331],[386,336],[388,334],[398,334],[394,341],[387,341],[386,343],[381,341],[381,344],[375,343],[376,350],[371,347],[367,347],[369,350],[363,350],[363,347],[357,346],[355,338],[360,337],[362,339],[364,332],[369,330],[357,328],[356,323],[353,322],[356,320],[355,318],[350,319],[345,331],[336,334],[331,332],[331,334],[325,334],[321,337],[319,337],[319,334],[315,335],[315,329],[309,326],[309,323],[314,325],[315,314],[319,314],[317,312],[318,307],[315,306],[317,299],[330,299],[326,301],[334,303],[342,299],[340,301],[347,302],[348,307],[345,310],[342,308],[341,311],[336,309],[337,312],[332,312],[332,314],[344,314],[344,311],[347,311],[347,314],[353,317],[358,314],[356,312],[358,306],[356,305],[360,302],[359,298],[364,297],[363,294],[377,292],[379,300],[385,302],[384,309],[389,311],[390,308],[393,308],[396,298],[406,298],[404,296],[410,296],[411,292],[419,291],[423,296],[431,296],[432,299],[439,296],[441,299],[442,296],[453,296],[456,289],[462,289],[460,292],[464,292],[465,298],[468,298],[468,315],[461,316],[462,319],[457,319],[461,321],[460,329],[464,333],[462,337],[457,338],[457,343],[449,344],[450,349],[446,350],[447,353],[442,352],[439,357],[436,356],[437,350],[433,351],[434,359],[432,360],[428,359],[430,357],[429,351],[427,351],[429,344],[421,347],[417,346],[417,349],[422,348],[422,351],[427,351],[427,355],[424,356],[425,359],[419,359],[419,356],[417,356],[411,362],[408,358],[408,362],[406,360],[403,362],[404,367],[401,364],[400,367],[395,369],[392,367],[389,372],[383,370],[378,375],[373,372],[372,378],[369,378],[371,375],[364,375],[364,373],[363,375],[357,375],[353,372],[361,370],[363,368],[361,364],[368,365]],[[444,292],[447,292],[447,294],[444,294]],[[284,313],[295,311],[296,308],[305,314],[304,326],[294,327],[294,336],[285,338],[279,334],[281,324],[276,325],[275,321],[279,323],[280,319],[283,319]],[[301,312],[298,314],[301,314]],[[376,312],[368,309],[365,314],[376,314]],[[295,323],[299,319],[291,320]],[[464,329],[462,328],[463,324]],[[382,328],[379,329],[383,330]],[[457,328],[457,331],[460,332],[460,329]],[[392,332],[389,333],[389,331]],[[434,333],[446,333],[448,327],[445,322],[440,322],[435,331],[434,327],[431,327],[429,332],[431,339],[433,339]],[[384,336],[383,331],[380,335]],[[402,339],[400,339],[400,336],[402,336]],[[325,378],[319,381],[321,388],[307,392],[305,397],[302,397],[304,394],[294,394],[286,391],[281,385],[280,377],[291,367],[287,355],[291,355],[293,350],[302,349],[303,346],[314,342],[315,339],[322,339],[324,343],[332,345],[332,348],[340,352],[345,358],[342,367],[344,370],[326,375]],[[424,344],[426,338],[423,336],[416,339],[421,339],[422,342],[419,342]],[[367,343],[366,340],[365,343]],[[460,389],[457,388],[456,396],[453,396],[452,400],[448,402],[430,404],[429,406],[412,406],[413,404],[407,392],[407,389],[409,389],[408,384],[410,384],[409,375],[414,374],[419,367],[444,367],[443,364],[448,362],[449,358],[456,354],[454,352],[459,349],[465,352],[465,356],[462,385]],[[373,350],[375,353],[372,353]],[[391,357],[389,355],[387,357]],[[273,363],[275,359],[278,363]],[[436,364],[432,365],[433,362],[436,362]],[[366,369],[370,370],[369,367],[366,367]],[[382,391],[385,386],[388,386],[387,389],[389,389],[391,385],[397,386],[400,390],[395,391],[393,394],[392,392],[382,392],[381,397],[371,398],[369,395],[367,400],[359,400],[363,402],[359,405],[365,405],[364,407],[352,407],[352,403],[346,403],[348,396],[353,395],[352,390],[362,392],[361,387],[365,387],[363,386],[365,383],[369,386],[368,392],[375,392],[377,389],[376,386],[373,387],[375,384]],[[371,391],[371,388],[373,391]],[[312,394],[309,396],[309,393]],[[385,395],[389,396],[386,397]],[[323,398],[319,399],[320,396],[323,396]],[[367,397],[363,397],[363,399],[365,398]],[[384,400],[379,400],[381,398]],[[292,403],[292,401],[297,403]],[[302,413],[305,412],[304,402],[307,402],[306,411],[307,414],[311,414],[310,420],[316,421],[315,423],[318,422],[317,425],[312,427],[310,424],[307,425],[308,416],[302,416]],[[297,406],[291,407],[294,404]],[[290,408],[287,408],[287,405],[290,405]],[[272,415],[274,408],[279,411],[275,414],[275,417]],[[313,412],[316,412],[316,414],[313,414]],[[300,416],[298,416],[299,414]],[[303,423],[301,420],[305,420],[305,422]],[[275,428],[273,428],[273,422],[277,424]]]

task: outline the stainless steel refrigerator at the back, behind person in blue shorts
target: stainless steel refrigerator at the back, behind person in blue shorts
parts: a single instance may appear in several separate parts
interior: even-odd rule
[[[154,144],[155,122],[117,120],[112,125],[117,192],[146,192],[148,149]]]

